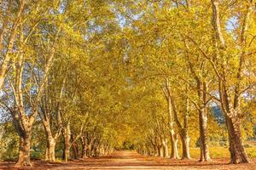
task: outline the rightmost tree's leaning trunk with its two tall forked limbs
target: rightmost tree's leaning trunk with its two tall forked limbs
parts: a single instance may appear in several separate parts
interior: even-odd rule
[[[241,141],[241,129],[240,129],[240,116],[241,116],[241,94],[244,92],[242,88],[242,80],[245,77],[243,71],[245,69],[247,55],[250,55],[252,50],[248,41],[248,28],[252,23],[253,14],[253,1],[247,1],[242,4],[245,8],[244,12],[241,13],[239,18],[239,23],[241,24],[239,31],[239,49],[235,49],[237,54],[235,54],[235,59],[238,65],[232,65],[228,62],[228,57],[230,56],[230,49],[235,47],[228,47],[230,43],[225,42],[224,34],[221,28],[221,20],[219,18],[219,2],[218,0],[212,0],[212,26],[214,29],[214,40],[215,40],[215,56],[217,59],[215,62],[212,61],[207,55],[207,59],[212,62],[212,67],[218,76],[218,93],[220,96],[220,103],[222,106],[222,111],[226,117],[226,124],[228,127],[229,139],[230,139],[230,162],[240,163],[248,162],[248,156],[244,149]],[[230,40],[229,40],[230,41]],[[232,53],[231,53],[232,54]],[[236,57],[238,55],[238,57]],[[223,59],[223,62],[217,65],[217,61]],[[236,71],[236,76],[232,77],[227,69],[234,69]],[[231,78],[232,77],[232,78]],[[234,78],[234,79],[233,79]],[[231,81],[231,83],[230,83]],[[235,88],[231,88],[235,85]],[[233,99],[232,99],[233,98]]]

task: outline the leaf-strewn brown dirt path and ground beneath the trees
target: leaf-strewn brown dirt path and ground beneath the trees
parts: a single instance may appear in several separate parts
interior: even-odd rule
[[[14,162],[0,162],[0,169],[222,169],[254,170],[256,159],[249,164],[229,164],[229,159],[212,159],[211,162],[192,160],[170,160],[153,156],[140,156],[135,151],[115,151],[110,156],[88,158],[85,160],[55,162],[32,161],[32,167],[14,168]]]

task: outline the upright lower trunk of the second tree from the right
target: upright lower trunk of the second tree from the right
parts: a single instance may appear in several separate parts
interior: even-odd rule
[[[211,161],[210,152],[207,144],[207,113],[206,109],[199,110],[199,127],[200,127],[200,161]]]

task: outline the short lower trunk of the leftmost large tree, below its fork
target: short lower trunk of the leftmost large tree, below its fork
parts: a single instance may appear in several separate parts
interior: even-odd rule
[[[19,157],[18,161],[15,164],[15,166],[17,167],[32,166],[30,162],[31,133],[32,132],[28,132],[23,137],[20,137]]]

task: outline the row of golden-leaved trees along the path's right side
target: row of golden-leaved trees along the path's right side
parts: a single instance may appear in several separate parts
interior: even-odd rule
[[[137,31],[127,53],[131,71],[138,74],[131,77],[147,88],[162,89],[168,117],[166,122],[154,118],[138,151],[149,154],[154,150],[155,155],[167,156],[170,138],[171,158],[178,158],[180,139],[182,158],[189,159],[189,128],[195,123],[190,116],[197,112],[200,161],[210,161],[208,113],[218,106],[228,133],[230,162],[248,162],[241,125],[252,120],[253,112],[247,109],[255,104],[254,2],[160,1],[148,5],[152,8],[144,8],[141,20],[133,25]]]

